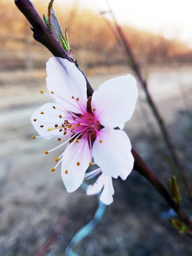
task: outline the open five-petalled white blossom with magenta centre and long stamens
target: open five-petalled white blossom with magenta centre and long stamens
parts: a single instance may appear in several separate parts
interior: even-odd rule
[[[132,146],[127,134],[114,127],[132,117],[138,93],[136,80],[132,75],[108,80],[87,100],[85,78],[73,63],[53,57],[46,71],[48,97],[53,103],[36,110],[31,122],[41,137],[58,138],[60,145],[55,149],[68,144],[55,159],[62,163],[61,176],[68,192],[81,185],[93,159],[105,177],[103,190],[112,178],[126,179],[134,165]]]

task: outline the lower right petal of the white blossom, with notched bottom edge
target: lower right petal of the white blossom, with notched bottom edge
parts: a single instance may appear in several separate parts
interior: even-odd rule
[[[134,166],[131,149],[131,143],[124,131],[105,127],[95,139],[92,156],[104,174],[113,178],[120,176],[124,180]]]

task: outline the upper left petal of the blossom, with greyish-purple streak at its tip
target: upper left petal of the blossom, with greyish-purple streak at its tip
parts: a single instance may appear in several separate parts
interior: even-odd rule
[[[55,101],[65,110],[82,113],[76,99],[79,98],[79,102],[86,107],[87,88],[85,78],[75,64],[63,58],[52,57],[47,62],[46,71],[48,91],[54,92],[50,95]]]

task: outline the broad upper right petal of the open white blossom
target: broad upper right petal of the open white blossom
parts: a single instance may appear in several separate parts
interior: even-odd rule
[[[100,124],[117,127],[127,122],[137,101],[137,82],[125,75],[104,82],[92,95],[92,109]]]

